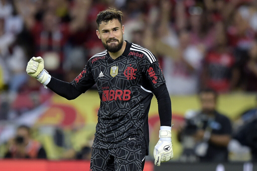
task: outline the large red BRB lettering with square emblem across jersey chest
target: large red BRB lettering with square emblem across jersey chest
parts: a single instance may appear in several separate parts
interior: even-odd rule
[[[112,101],[112,100],[124,100],[127,101],[131,98],[130,96],[131,91],[130,90],[104,90],[102,101]]]

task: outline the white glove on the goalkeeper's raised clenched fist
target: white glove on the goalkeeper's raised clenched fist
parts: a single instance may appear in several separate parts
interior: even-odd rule
[[[27,74],[41,82],[45,88],[51,80],[51,75],[44,69],[44,60],[39,57],[33,57],[27,64]]]

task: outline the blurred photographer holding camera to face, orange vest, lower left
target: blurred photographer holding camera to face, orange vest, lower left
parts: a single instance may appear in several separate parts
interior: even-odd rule
[[[10,148],[5,158],[47,158],[40,142],[30,137],[31,129],[21,125],[17,128],[16,136],[10,140]]]

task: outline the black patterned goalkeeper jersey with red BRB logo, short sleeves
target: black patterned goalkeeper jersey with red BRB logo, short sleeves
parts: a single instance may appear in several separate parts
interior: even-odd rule
[[[101,101],[92,147],[110,149],[143,141],[148,147],[151,90],[165,83],[157,58],[129,42],[115,60],[105,50],[88,60],[72,85],[84,93],[95,83]]]

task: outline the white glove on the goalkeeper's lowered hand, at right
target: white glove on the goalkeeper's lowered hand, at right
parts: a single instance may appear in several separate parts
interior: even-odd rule
[[[173,125],[172,125],[173,126]],[[171,127],[172,127],[171,126]],[[173,158],[171,127],[161,126],[159,131],[159,141],[154,147],[154,165],[160,166],[161,162],[169,161]]]

